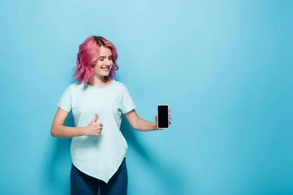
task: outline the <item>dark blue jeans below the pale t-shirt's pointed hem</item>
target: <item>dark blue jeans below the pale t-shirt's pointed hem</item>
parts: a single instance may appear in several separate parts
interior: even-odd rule
[[[108,183],[88,176],[78,170],[73,164],[71,165],[71,195],[98,195],[99,187],[101,195],[127,195],[127,185],[126,158],[123,159],[117,172],[110,178]]]

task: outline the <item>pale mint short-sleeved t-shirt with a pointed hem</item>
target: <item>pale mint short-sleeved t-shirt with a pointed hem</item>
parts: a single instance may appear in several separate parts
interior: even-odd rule
[[[73,165],[80,171],[107,183],[128,149],[120,132],[121,115],[136,106],[126,86],[115,80],[105,87],[76,82],[66,88],[57,105],[72,112],[76,127],[87,126],[98,114],[97,122],[104,125],[101,135],[73,137],[70,153]]]

